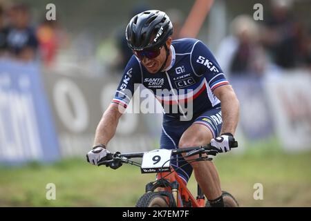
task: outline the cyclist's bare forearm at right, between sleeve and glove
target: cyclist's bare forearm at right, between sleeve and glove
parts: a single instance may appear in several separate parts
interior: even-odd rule
[[[234,135],[240,113],[240,104],[234,93],[232,86],[224,85],[214,90],[214,95],[221,102],[221,115],[223,117],[223,127],[220,134],[232,133]]]

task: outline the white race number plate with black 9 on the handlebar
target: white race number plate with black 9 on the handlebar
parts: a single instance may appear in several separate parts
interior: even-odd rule
[[[144,153],[142,157],[142,173],[158,173],[170,171],[171,150],[158,149]]]

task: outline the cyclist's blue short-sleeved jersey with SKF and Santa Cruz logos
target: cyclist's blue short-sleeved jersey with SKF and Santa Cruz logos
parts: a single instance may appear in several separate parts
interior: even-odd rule
[[[213,91],[229,82],[207,46],[198,39],[178,39],[172,41],[171,55],[170,66],[158,73],[149,73],[133,55],[112,102],[126,107],[134,93],[134,84],[142,84],[153,92],[163,107],[177,106],[176,113],[164,108],[164,114],[170,117],[185,114],[180,104],[191,104],[193,115],[220,104]]]

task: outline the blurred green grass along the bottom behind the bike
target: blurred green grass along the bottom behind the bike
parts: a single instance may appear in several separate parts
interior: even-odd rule
[[[311,206],[311,152],[288,155],[255,146],[243,155],[214,159],[222,188],[241,206]],[[114,171],[80,159],[1,166],[0,206],[135,206],[145,184],[154,179],[135,166]],[[56,200],[46,200],[48,183],[56,185]],[[263,200],[253,198],[256,183],[263,184]],[[189,189],[196,194],[194,176]]]

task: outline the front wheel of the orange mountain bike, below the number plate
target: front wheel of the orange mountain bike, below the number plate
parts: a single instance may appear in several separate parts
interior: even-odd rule
[[[144,193],[138,200],[136,207],[169,207],[167,197],[165,195],[171,194],[168,192],[150,192]]]

